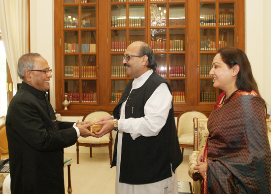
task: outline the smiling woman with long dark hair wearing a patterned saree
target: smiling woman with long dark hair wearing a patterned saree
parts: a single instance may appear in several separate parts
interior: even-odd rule
[[[207,122],[209,136],[197,157],[203,194],[271,194],[271,150],[266,106],[246,54],[222,47],[209,75],[223,90]]]

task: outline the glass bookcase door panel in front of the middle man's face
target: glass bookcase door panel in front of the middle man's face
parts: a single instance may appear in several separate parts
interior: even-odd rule
[[[118,3],[117,3],[118,2]],[[146,1],[111,0],[110,2],[110,92],[109,104],[118,103],[127,83],[132,79],[126,74],[123,56],[129,44],[135,41],[146,42]]]

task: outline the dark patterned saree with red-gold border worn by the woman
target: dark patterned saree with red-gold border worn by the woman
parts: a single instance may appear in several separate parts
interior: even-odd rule
[[[265,101],[238,91],[208,118],[208,194],[271,194]]]

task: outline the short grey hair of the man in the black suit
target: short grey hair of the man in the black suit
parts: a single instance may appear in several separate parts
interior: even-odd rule
[[[35,58],[37,57],[42,57],[42,56],[38,53],[31,52],[31,53],[24,54],[20,57],[20,59],[18,60],[18,67],[17,67],[17,73],[20,78],[23,79],[25,77],[26,70],[33,69],[34,61],[35,61]]]

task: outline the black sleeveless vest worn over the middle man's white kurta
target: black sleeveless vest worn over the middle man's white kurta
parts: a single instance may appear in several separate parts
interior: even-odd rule
[[[113,111],[114,118],[120,118],[121,105],[128,98],[133,81],[134,79],[128,83],[115,107]],[[155,72],[140,88],[133,89],[126,102],[125,118],[144,116],[145,103],[161,83],[166,83],[171,92],[169,83]],[[171,106],[166,124],[157,136],[139,136],[133,140],[129,133],[123,133],[119,180],[121,183],[137,185],[164,180],[172,176],[170,163],[174,172],[182,162],[172,102]],[[116,165],[117,142],[118,134],[115,140],[111,167]]]

